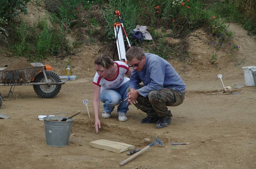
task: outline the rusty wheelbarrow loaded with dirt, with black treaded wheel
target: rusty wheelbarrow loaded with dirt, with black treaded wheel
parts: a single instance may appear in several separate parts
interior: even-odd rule
[[[52,71],[52,67],[40,62],[30,63],[31,67],[16,70],[4,70],[0,68],[0,86],[11,86],[7,97],[13,94],[15,86],[33,85],[34,91],[41,98],[52,98],[60,92],[62,84],[60,77]],[[0,94],[0,107],[2,104]]]

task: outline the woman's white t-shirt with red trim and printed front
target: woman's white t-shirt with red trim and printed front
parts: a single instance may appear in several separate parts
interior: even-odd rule
[[[124,74],[128,73],[128,65],[121,61],[114,61],[114,63],[117,65],[117,75],[115,79],[108,80],[107,78],[101,78],[97,72],[94,76],[93,84],[100,86],[100,92],[106,89],[119,88],[130,80],[129,78],[124,77]]]

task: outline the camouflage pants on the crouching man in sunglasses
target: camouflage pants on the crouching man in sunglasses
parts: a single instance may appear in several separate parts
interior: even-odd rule
[[[140,85],[140,88],[143,85]],[[127,93],[130,88],[127,88]],[[147,97],[139,94],[138,103],[134,104],[138,109],[147,113],[148,116],[166,117],[172,116],[172,113],[166,106],[178,106],[185,98],[185,93],[176,90],[163,88],[162,90],[153,90]]]

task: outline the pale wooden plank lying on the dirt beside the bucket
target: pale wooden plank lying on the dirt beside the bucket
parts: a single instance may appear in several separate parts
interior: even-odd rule
[[[127,145],[127,146],[125,146],[125,145]],[[130,149],[134,149],[133,145],[125,144],[125,143],[121,143],[121,142],[113,142],[113,141],[104,140],[104,139],[92,141],[92,142],[90,142],[90,146],[94,147],[94,148],[112,151],[112,152],[115,152],[118,154],[121,152],[130,150]]]

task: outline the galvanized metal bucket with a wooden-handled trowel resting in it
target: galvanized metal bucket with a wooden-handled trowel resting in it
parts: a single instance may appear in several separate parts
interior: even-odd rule
[[[44,129],[46,144],[52,147],[64,147],[68,145],[73,118],[65,122],[51,121],[59,120],[61,116],[44,117]]]

